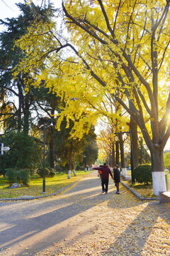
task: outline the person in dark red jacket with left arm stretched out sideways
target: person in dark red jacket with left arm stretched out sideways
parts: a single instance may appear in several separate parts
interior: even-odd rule
[[[109,166],[106,165],[106,163],[103,164],[103,166],[93,168],[94,170],[100,170],[102,172],[101,175],[101,186],[102,186],[102,193],[106,192],[108,193],[108,176],[109,174],[113,178],[113,174],[111,173],[111,169]]]

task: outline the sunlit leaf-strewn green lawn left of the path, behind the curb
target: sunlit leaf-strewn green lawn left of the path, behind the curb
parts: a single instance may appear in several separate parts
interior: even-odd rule
[[[45,178],[45,191],[47,194],[55,193],[86,174],[89,174],[89,171],[77,171],[76,173],[77,176],[74,177],[74,174],[72,173],[70,179],[67,178],[67,174],[65,173],[57,173],[53,178]],[[21,188],[10,188],[5,178],[0,176],[0,198],[17,198],[18,196],[25,195],[42,196],[42,178],[40,178],[40,176],[32,176],[29,186]]]

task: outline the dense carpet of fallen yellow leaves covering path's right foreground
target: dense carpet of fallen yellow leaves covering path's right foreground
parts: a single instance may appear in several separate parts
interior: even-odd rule
[[[37,255],[161,256],[170,255],[170,207],[141,202],[121,186],[70,221],[75,232]],[[79,198],[83,203],[83,198]],[[63,229],[67,228],[64,226]]]

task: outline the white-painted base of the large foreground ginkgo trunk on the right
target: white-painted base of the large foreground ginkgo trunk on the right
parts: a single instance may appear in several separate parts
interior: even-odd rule
[[[164,171],[152,171],[153,193],[159,196],[159,191],[166,191]]]

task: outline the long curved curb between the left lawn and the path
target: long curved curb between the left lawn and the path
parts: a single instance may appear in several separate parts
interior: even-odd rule
[[[81,178],[84,178],[86,177],[87,175],[89,174],[86,174],[84,175],[83,177]],[[77,181],[74,181],[73,183],[65,186],[64,188],[61,188],[60,191],[57,191],[55,193],[51,193],[51,194],[48,194],[48,195],[45,195],[45,196],[35,196],[35,197],[30,197],[28,196],[28,198],[0,198],[0,202],[1,201],[28,201],[28,200],[34,200],[34,199],[39,199],[39,198],[46,198],[48,196],[55,196],[57,195],[58,193],[61,193],[62,191],[64,191],[65,189],[69,188],[70,186],[74,185],[74,183],[77,183],[78,181],[81,180],[81,178],[79,178]]]

